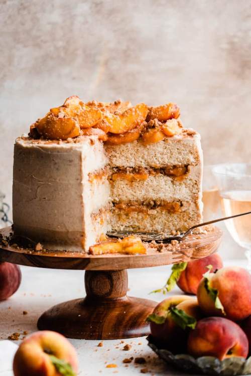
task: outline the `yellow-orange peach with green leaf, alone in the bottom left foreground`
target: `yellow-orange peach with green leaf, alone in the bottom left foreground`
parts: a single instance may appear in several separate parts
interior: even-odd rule
[[[44,330],[31,334],[19,346],[13,361],[15,376],[59,376],[58,363],[76,375],[75,348],[61,334]]]

